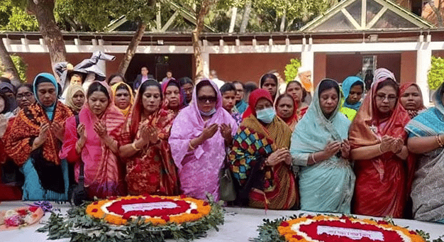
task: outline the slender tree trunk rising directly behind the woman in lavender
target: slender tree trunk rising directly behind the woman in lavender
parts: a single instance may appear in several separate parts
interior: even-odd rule
[[[204,60],[201,55],[200,37],[204,29],[204,18],[210,10],[211,4],[217,0],[203,0],[196,16],[196,28],[192,31],[194,60],[196,62],[196,76],[204,72]]]

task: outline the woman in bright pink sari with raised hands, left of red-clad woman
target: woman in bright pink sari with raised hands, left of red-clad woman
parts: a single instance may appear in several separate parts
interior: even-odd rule
[[[89,198],[126,193],[116,141],[124,121],[106,82],[93,82],[89,86],[87,104],[79,112],[78,127],[74,116],[66,121],[60,157],[75,163],[76,181],[80,164],[84,163],[84,185]]]

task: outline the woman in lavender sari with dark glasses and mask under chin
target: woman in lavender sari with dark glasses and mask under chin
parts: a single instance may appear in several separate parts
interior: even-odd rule
[[[169,139],[172,158],[184,194],[205,199],[205,192],[209,192],[217,201],[218,173],[238,125],[223,109],[221,93],[209,79],[196,84],[193,100],[172,124]]]

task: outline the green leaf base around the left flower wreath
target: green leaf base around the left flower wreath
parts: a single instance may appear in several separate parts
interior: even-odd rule
[[[61,214],[52,213],[48,223],[38,232],[48,233],[48,239],[70,238],[71,242],[89,241],[165,241],[174,238],[176,241],[191,241],[206,236],[206,231],[216,229],[223,224],[223,209],[210,200],[210,214],[202,219],[183,224],[168,223],[164,226],[155,226],[145,223],[145,219],[133,219],[125,226],[106,224],[101,219],[94,219],[85,212],[89,204],[74,207],[67,211],[65,218]]]

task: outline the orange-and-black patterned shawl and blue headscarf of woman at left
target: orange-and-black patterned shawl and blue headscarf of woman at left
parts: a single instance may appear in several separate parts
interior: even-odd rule
[[[41,73],[35,77],[34,89],[37,88],[35,86],[39,78],[48,79],[54,84],[57,92],[55,77],[48,73]],[[38,97],[35,98],[38,99]],[[22,109],[18,112],[16,118],[9,123],[10,128],[4,134],[5,151],[9,157],[20,166],[26,163],[29,158],[33,158],[33,165],[43,188],[59,193],[65,192],[58,155],[60,142],[51,131],[48,131],[45,143],[33,151],[31,151],[31,148],[43,123],[64,125],[66,119],[70,116],[72,116],[70,108],[57,100],[55,104],[46,108],[39,103],[31,104],[28,109]]]

